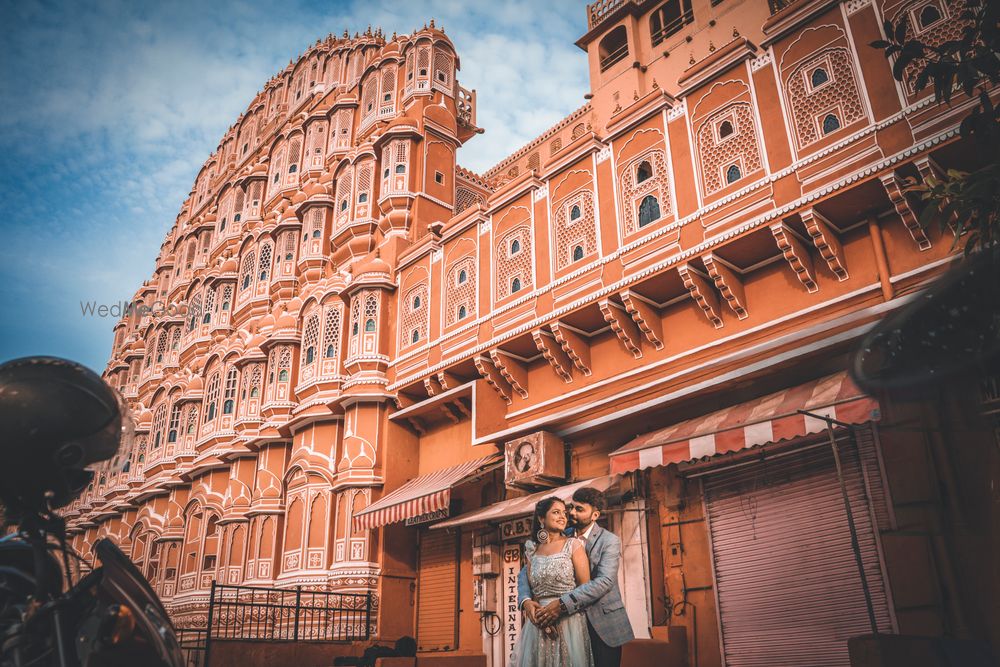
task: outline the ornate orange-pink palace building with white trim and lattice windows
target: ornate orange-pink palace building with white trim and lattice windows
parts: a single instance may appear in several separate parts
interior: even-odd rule
[[[115,326],[137,437],[74,546],[114,539],[181,628],[216,588],[353,593],[366,637],[501,667],[525,519],[596,486],[637,637],[688,661],[663,664],[996,645],[990,566],[947,527],[941,489],[981,474],[942,463],[952,413],[847,373],[953,259],[904,179],[969,154],[972,102],[869,43],[902,16],[953,39],[959,9],[595,2],[585,103],[483,174],[444,29],[317,42],[199,172],[134,295],[164,311]]]

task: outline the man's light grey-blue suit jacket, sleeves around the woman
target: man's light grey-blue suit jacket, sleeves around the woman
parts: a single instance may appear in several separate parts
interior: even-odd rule
[[[614,533],[594,526],[585,548],[590,559],[590,581],[566,593],[561,600],[570,614],[582,611],[587,615],[590,627],[601,641],[611,647],[621,646],[635,637],[618,588],[621,540]],[[519,607],[531,597],[526,570],[521,568],[517,577]]]

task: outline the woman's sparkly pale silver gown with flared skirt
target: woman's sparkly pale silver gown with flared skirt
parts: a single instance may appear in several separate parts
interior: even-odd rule
[[[532,599],[544,607],[576,588],[573,552],[582,549],[583,543],[571,537],[566,540],[560,551],[549,556],[535,553],[536,548],[531,541],[524,545],[528,561],[531,563],[528,582],[531,584]],[[594,658],[590,651],[590,633],[587,630],[586,615],[563,616],[553,627],[555,632],[547,634],[525,619],[521,626],[521,636],[518,637],[517,645],[514,647],[511,665],[593,667]]]

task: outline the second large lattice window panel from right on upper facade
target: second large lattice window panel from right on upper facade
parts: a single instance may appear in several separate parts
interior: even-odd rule
[[[795,68],[787,90],[799,147],[822,139],[824,130],[847,127],[865,117],[847,49],[828,49]],[[837,127],[827,121],[824,128],[829,115],[836,118]]]

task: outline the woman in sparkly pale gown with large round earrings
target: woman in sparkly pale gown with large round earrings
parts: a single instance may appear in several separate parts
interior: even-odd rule
[[[524,566],[531,600],[541,606],[590,581],[583,542],[566,537],[566,503],[554,496],[535,505],[531,537],[524,545]],[[525,623],[514,647],[513,667],[593,667],[590,633],[584,614],[561,616],[555,625]]]

